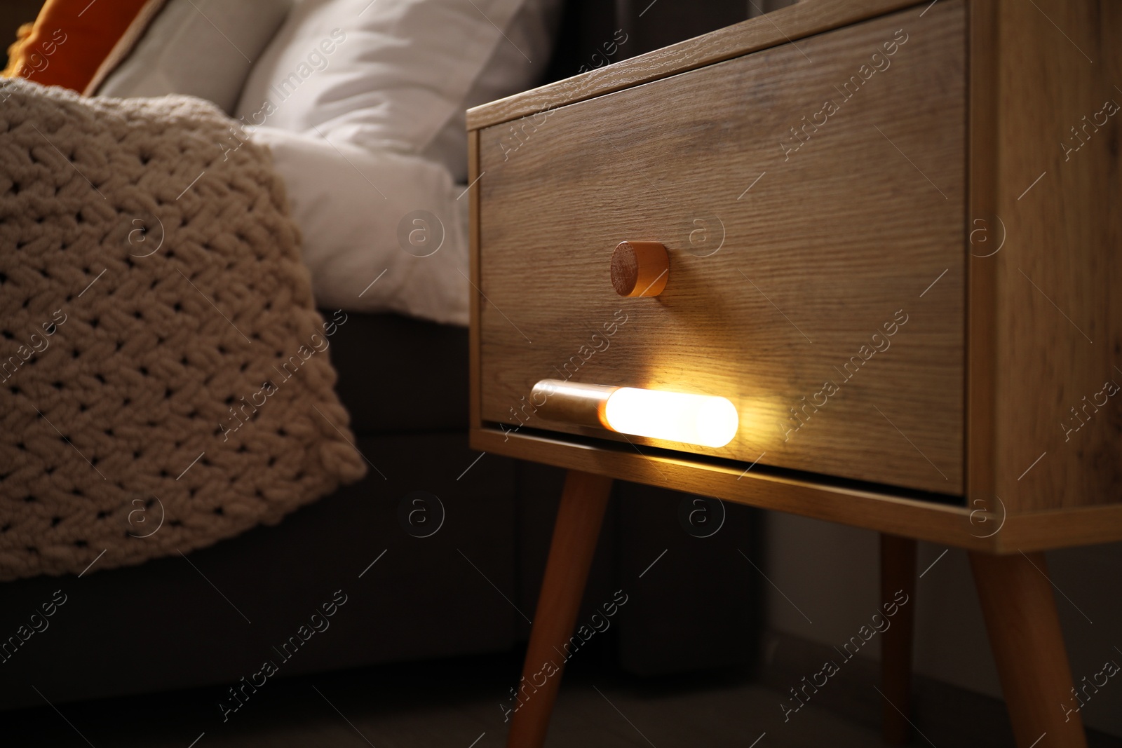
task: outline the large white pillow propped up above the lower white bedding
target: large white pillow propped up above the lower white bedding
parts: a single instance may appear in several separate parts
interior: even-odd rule
[[[497,44],[509,44],[499,29],[522,6],[303,0],[254,66],[236,116],[247,124],[319,128],[367,148],[421,153],[463,108]],[[549,56],[549,49],[523,52],[540,63]]]

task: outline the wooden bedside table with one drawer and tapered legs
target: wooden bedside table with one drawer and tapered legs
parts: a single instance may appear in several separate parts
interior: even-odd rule
[[[570,470],[527,680],[623,479],[879,530],[891,589],[967,548],[1018,745],[1085,745],[1042,552],[1122,539],[1120,38],[1112,3],[807,0],[469,111],[471,444]],[[735,435],[619,427],[616,388]]]

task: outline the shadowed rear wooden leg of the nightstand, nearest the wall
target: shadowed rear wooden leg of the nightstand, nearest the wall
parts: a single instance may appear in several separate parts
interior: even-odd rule
[[[907,598],[898,597],[903,592]],[[899,604],[901,599],[907,603]],[[916,541],[881,534],[881,602],[898,606],[881,640],[884,704],[881,731],[889,746],[908,742],[911,726],[911,652],[916,620]]]

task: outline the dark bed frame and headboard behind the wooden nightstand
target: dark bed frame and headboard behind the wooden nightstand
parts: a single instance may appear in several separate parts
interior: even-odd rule
[[[569,2],[548,79],[737,22],[751,7],[743,0]],[[42,705],[29,684],[55,704],[195,686],[213,686],[218,703],[263,661],[279,663],[274,647],[337,590],[347,603],[329,630],[283,662],[282,675],[521,646],[562,472],[468,449],[467,330],[351,314],[331,355],[357,446],[385,478],[370,470],[274,527],[191,553],[190,563],[174,555],[81,579],[3,584],[2,636],[56,590],[67,601],[49,629],[0,665],[0,707]],[[443,524],[429,537],[410,534],[401,519],[415,491],[443,506]],[[625,589],[626,608],[600,646],[633,673],[743,665],[755,654],[757,575],[747,564],[734,571],[725,562],[736,548],[758,552],[758,523],[749,509],[730,505],[719,533],[693,537],[680,526],[683,499],[617,484],[608,510],[580,620]],[[512,683],[515,677],[512,672]]]

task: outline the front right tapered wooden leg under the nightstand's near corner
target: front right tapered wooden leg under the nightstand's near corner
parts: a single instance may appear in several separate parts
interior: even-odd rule
[[[1018,748],[1086,748],[1079,713],[1065,714],[1078,704],[1045,554],[971,553],[971,566]]]

